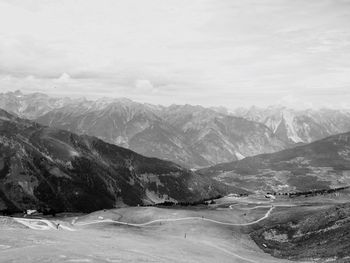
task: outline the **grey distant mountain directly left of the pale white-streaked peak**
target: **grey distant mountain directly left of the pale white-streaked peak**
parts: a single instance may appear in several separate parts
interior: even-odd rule
[[[201,106],[173,105],[163,111],[162,117],[178,127],[191,150],[201,153],[210,163],[242,159],[286,147],[263,124]]]

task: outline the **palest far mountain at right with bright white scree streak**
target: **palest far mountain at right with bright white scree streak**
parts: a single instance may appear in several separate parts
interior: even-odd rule
[[[350,112],[331,109],[292,110],[282,106],[238,109],[234,115],[268,126],[286,143],[310,143],[350,131]]]

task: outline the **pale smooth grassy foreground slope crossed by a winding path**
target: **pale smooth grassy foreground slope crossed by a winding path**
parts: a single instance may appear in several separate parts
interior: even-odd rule
[[[22,262],[25,258],[26,262],[101,263],[288,262],[263,253],[242,233],[241,226],[203,220],[244,224],[262,217],[265,210],[127,207],[71,218],[58,215],[47,220],[59,222],[59,230],[54,227],[41,230],[41,224],[35,224],[37,220],[4,218],[2,221],[0,217],[1,259],[6,262]],[[177,218],[197,219],[166,220]],[[131,224],[164,220],[142,227],[113,223],[110,219]],[[16,221],[26,222],[28,228]]]

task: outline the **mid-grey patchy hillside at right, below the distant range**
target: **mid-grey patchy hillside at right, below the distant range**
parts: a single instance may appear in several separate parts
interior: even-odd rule
[[[199,173],[228,185],[264,193],[347,186],[350,185],[350,133],[219,164]]]

